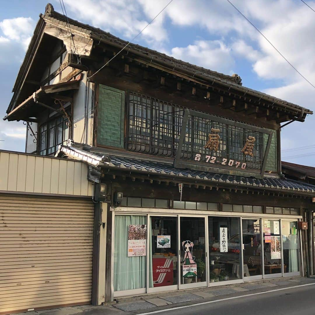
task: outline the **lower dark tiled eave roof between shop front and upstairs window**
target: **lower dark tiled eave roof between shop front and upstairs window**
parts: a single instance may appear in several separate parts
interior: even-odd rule
[[[237,185],[239,189],[246,189],[245,187],[260,187],[267,190],[285,190],[296,192],[308,192],[315,193],[315,186],[306,184],[303,182],[289,180],[286,178],[274,178],[264,177],[263,179],[245,176],[236,176],[212,172],[202,172],[197,170],[179,169],[175,168],[171,163],[160,163],[154,161],[148,161],[143,159],[120,157],[114,155],[104,155],[102,153],[90,153],[88,151],[78,149],[73,146],[60,146],[60,152],[66,153],[69,157],[74,157],[87,163],[94,165],[95,167],[106,166],[116,169],[128,169],[131,172],[143,172],[146,174],[155,175],[170,175],[184,179],[195,179],[196,182],[201,180],[207,180],[212,183],[226,183]],[[109,160],[108,158],[109,157]]]

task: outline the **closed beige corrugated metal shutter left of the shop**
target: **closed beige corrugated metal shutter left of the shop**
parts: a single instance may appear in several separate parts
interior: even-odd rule
[[[0,195],[0,314],[91,302],[92,201]]]

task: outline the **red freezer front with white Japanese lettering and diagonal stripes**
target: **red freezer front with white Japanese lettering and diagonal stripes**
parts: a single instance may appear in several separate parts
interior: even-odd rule
[[[173,261],[170,258],[152,258],[153,286],[173,285]]]

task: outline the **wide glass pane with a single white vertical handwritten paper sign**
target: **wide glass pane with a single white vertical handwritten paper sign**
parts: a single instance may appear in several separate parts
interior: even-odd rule
[[[240,232],[240,218],[208,216],[210,285],[243,278]]]

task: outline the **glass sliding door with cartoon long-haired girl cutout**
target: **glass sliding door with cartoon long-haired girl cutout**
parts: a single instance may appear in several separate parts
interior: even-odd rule
[[[207,285],[204,217],[180,216],[180,289]]]

